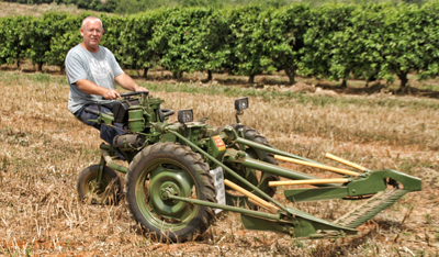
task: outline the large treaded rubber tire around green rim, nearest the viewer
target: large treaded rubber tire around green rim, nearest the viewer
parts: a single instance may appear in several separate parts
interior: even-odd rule
[[[134,220],[140,223],[150,235],[155,235],[157,241],[172,243],[192,241],[209,228],[214,220],[215,213],[213,209],[209,206],[196,204],[191,205],[185,203],[191,208],[191,219],[175,226],[172,223],[168,223],[167,221],[157,216],[156,213],[153,213],[148,206],[150,208],[150,201],[155,200],[154,197],[146,195],[149,193],[145,191],[149,190],[145,190],[147,187],[145,183],[148,182],[147,180],[154,180],[154,176],[150,176],[150,172],[156,170],[157,167],[162,168],[162,164],[173,165],[172,168],[168,170],[172,171],[173,167],[178,165],[178,168],[181,169],[180,171],[184,171],[185,175],[189,172],[193,180],[191,182],[193,182],[194,187],[196,188],[196,199],[216,202],[215,187],[209,172],[209,165],[202,160],[201,156],[193,153],[187,146],[181,146],[175,143],[157,143],[144,148],[130,164],[128,174],[125,176],[126,205],[130,209]],[[151,165],[151,169],[149,170],[148,165]],[[167,169],[166,166],[165,169]],[[162,185],[165,185],[165,182]],[[144,189],[142,190],[140,187]],[[154,187],[154,185],[150,187]],[[136,188],[138,189],[136,190]],[[136,192],[139,192],[138,194],[143,194],[144,197],[137,195]],[[160,190],[158,190],[157,193],[160,193]],[[155,197],[157,198],[158,195]],[[144,200],[142,200],[142,198],[144,198]],[[148,201],[148,203],[146,203],[146,201]],[[179,202],[177,201],[177,203]],[[142,210],[144,210],[146,216],[142,213]],[[149,222],[148,219],[151,220],[151,222]],[[179,228],[173,230],[169,227]]]

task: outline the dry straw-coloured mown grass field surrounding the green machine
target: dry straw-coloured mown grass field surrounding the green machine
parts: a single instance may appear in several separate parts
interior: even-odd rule
[[[82,125],[68,112],[65,78],[20,72],[2,72],[0,78],[0,255],[439,254],[438,110],[354,104],[315,107],[250,98],[251,105],[241,116],[243,123],[259,130],[277,147],[336,166],[323,160],[323,153],[339,155],[370,169],[385,167],[409,172],[423,178],[424,190],[408,193],[381,212],[360,227],[357,237],[297,241],[269,232],[250,232],[243,230],[238,214],[227,213],[198,241],[167,245],[144,235],[123,203],[100,206],[78,201],[77,175],[99,161],[97,148],[101,139],[94,128]],[[165,99],[166,108],[193,108],[196,119],[210,116],[213,126],[235,122],[233,98],[164,91],[153,94]],[[379,141],[371,141],[373,137]],[[282,165],[322,177],[334,176]],[[282,201],[281,194],[277,198]],[[356,203],[326,201],[296,206],[334,220],[352,204]]]

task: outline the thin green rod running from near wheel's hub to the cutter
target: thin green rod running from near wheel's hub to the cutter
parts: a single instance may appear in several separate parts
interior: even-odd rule
[[[194,204],[199,204],[199,205],[204,205],[204,206],[210,206],[210,208],[215,208],[215,209],[223,209],[225,211],[238,212],[238,213],[243,213],[246,215],[260,216],[260,217],[275,220],[275,221],[280,220],[279,214],[258,212],[258,211],[252,211],[252,210],[248,210],[248,209],[244,209],[244,208],[236,208],[236,206],[230,206],[230,205],[225,205],[225,204],[219,204],[219,203],[214,203],[214,202],[207,202],[207,201],[192,199],[192,198],[177,197],[173,194],[168,194],[168,198],[172,199],[172,200],[190,202],[190,203],[194,203]]]

